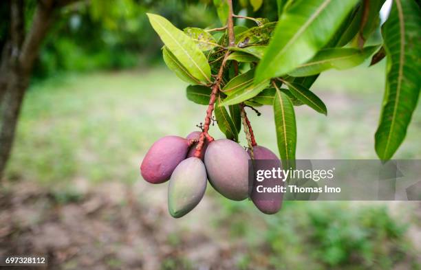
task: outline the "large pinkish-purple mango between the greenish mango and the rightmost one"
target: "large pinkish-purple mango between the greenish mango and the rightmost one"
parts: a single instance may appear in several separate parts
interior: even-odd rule
[[[241,201],[248,197],[247,152],[236,142],[218,139],[208,145],[205,166],[213,188],[228,199]]]

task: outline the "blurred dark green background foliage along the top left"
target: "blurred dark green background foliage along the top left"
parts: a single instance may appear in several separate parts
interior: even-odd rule
[[[25,12],[30,25],[36,0],[27,2]],[[240,1],[235,9],[253,14],[248,1]],[[74,3],[60,12],[36,62],[35,81],[63,71],[127,69],[155,62],[161,58],[162,45],[146,12],[161,14],[179,28],[220,26],[211,0],[90,0]],[[263,14],[276,20],[276,1],[265,1],[254,16]],[[0,15],[8,16],[1,3]],[[0,40],[7,29],[8,25],[0,25]]]

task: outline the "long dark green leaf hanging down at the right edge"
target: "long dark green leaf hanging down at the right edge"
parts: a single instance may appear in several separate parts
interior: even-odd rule
[[[376,153],[390,159],[407,133],[420,95],[421,10],[413,0],[395,0],[382,27],[387,54],[387,80]]]

